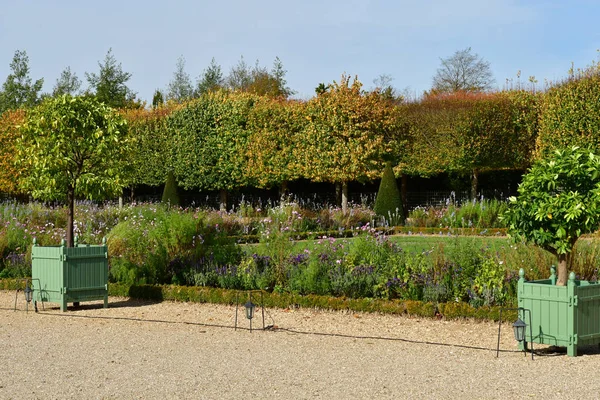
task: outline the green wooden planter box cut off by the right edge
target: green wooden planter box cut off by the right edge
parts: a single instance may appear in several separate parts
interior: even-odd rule
[[[526,329],[526,340],[567,348],[569,356],[577,356],[578,346],[600,344],[600,284],[575,280],[571,272],[566,286],[556,286],[552,267],[549,279],[525,281],[519,271],[519,307],[531,311],[532,335]],[[525,315],[527,317],[527,315]],[[524,320],[529,323],[528,319]]]

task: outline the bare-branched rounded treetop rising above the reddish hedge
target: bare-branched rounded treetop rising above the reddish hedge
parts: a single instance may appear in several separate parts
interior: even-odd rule
[[[440,60],[442,65],[433,77],[434,93],[482,92],[495,82],[490,63],[472,54],[470,47]]]

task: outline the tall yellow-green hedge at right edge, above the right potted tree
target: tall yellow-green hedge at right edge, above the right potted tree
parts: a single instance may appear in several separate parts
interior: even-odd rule
[[[540,156],[572,146],[600,151],[600,71],[578,71],[543,96],[537,150]]]

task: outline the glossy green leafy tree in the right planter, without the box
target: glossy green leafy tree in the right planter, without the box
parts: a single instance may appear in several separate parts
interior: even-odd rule
[[[575,242],[600,223],[600,157],[571,147],[537,161],[509,199],[505,220],[515,240],[558,258],[556,284],[564,286]]]

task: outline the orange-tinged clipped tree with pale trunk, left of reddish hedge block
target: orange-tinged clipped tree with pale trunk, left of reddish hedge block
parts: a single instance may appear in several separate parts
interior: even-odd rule
[[[378,93],[363,93],[355,78],[342,75],[339,83],[306,105],[308,123],[296,147],[302,175],[341,186],[341,206],[348,208],[348,182],[379,177],[395,144],[395,108]]]

